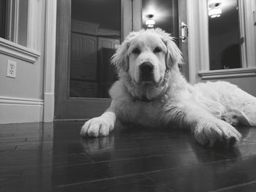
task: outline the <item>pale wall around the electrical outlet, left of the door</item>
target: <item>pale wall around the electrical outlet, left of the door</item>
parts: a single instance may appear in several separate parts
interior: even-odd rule
[[[31,52],[39,55],[35,58],[35,62],[7,55],[0,46],[0,123],[42,121],[46,3],[44,0],[39,0],[34,1],[33,4],[37,12],[33,17],[34,26],[30,28],[33,31],[29,34],[34,35],[34,47]],[[15,79],[6,77],[7,60],[17,62]]]

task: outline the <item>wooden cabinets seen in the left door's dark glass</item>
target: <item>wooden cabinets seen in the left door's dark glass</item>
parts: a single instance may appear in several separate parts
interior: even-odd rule
[[[94,23],[72,21],[70,96],[109,97],[108,89],[116,80],[110,58],[119,44],[118,31],[102,29]]]

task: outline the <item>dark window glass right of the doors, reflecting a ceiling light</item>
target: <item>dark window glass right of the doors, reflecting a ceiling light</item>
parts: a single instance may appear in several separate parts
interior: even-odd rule
[[[208,0],[210,69],[236,69],[241,64],[238,0]]]

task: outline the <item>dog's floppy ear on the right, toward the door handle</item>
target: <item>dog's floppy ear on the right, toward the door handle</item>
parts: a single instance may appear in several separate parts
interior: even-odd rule
[[[174,38],[170,37],[170,34],[165,33],[165,31],[162,31],[160,28],[156,28],[155,31],[160,35],[162,41],[165,42],[167,47],[167,54],[165,56],[165,64],[167,69],[170,69],[178,64],[184,64],[181,56],[181,50],[179,50],[178,46],[174,42]]]

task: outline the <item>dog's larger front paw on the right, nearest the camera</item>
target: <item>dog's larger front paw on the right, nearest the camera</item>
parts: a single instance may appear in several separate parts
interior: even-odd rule
[[[216,142],[234,145],[241,139],[241,134],[236,131],[236,128],[219,119],[200,120],[195,127],[194,134],[197,142],[211,147]]]

